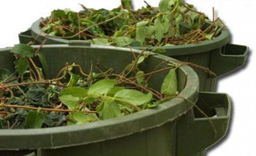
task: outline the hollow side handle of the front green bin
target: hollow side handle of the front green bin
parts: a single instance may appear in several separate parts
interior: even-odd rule
[[[231,101],[227,94],[200,92],[196,105],[211,117],[196,114],[194,109],[178,120],[178,155],[204,151],[227,132],[231,115]]]

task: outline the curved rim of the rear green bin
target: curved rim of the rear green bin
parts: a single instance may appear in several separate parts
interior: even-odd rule
[[[58,44],[68,44],[68,41],[69,41],[68,39],[48,37],[47,36],[48,34],[41,31],[39,27],[41,19],[42,18],[40,18],[39,20],[37,20],[32,24],[30,28],[32,37],[40,35],[40,37],[43,37],[44,39],[51,39],[55,42],[58,42]],[[163,53],[164,55],[168,55],[168,56],[188,55],[188,54],[196,54],[196,53],[211,51],[213,49],[226,45],[229,41],[230,41],[230,32],[227,28],[224,28],[218,37],[211,40],[204,40],[198,43],[191,43],[191,44],[182,44],[182,45],[174,45],[174,46],[166,46],[166,47],[162,46],[161,48],[167,50],[165,53]],[[133,46],[132,48],[143,50],[147,47]],[[155,48],[156,46],[152,46],[149,48],[149,50],[153,50]]]

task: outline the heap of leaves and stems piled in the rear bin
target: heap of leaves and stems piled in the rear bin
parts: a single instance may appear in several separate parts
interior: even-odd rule
[[[225,26],[183,0],[161,0],[159,7],[132,9],[131,0],[121,0],[113,10],[80,12],[54,10],[41,20],[41,30],[51,37],[90,40],[100,45],[171,46],[214,39]]]

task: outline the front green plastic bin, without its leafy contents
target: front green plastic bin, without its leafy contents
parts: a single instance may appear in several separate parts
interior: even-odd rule
[[[14,70],[14,57],[10,49],[0,49],[0,67]],[[75,62],[89,71],[93,61],[106,69],[112,67],[119,73],[134,59],[128,48],[90,46],[88,42],[83,44],[81,41],[70,41],[70,45],[46,45],[42,52],[51,69],[46,73],[46,78],[55,76],[66,62]],[[169,59],[163,55],[152,55],[142,63],[141,69],[150,72]],[[152,76],[150,87],[160,90],[160,84],[167,73]],[[225,94],[199,93],[198,76],[188,66],[180,67],[177,74],[181,97],[194,103],[198,101],[198,107],[209,115],[212,114],[208,112],[216,110],[217,117],[211,118],[216,135],[212,133],[206,117],[200,117],[191,103],[177,98],[156,109],[84,125],[0,130],[0,155],[21,156],[24,152],[31,152],[27,150],[38,150],[38,156],[198,156],[198,153],[203,156],[204,150],[217,142],[227,130],[230,100]],[[200,98],[210,107],[201,105]],[[194,139],[195,134],[198,134],[197,139]]]

